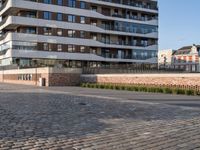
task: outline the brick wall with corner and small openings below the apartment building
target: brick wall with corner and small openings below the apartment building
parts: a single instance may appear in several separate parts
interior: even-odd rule
[[[81,69],[33,68],[0,71],[0,82],[39,86],[39,79],[45,79],[46,86],[74,86],[80,84]],[[21,80],[19,75],[30,74],[31,80]]]

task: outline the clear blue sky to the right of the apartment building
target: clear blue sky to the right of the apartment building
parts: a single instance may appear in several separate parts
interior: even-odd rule
[[[200,0],[158,0],[159,49],[200,45]]]

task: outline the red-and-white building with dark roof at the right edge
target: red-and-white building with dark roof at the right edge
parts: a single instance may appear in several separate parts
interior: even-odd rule
[[[173,67],[187,72],[200,72],[200,45],[185,46],[172,56]]]

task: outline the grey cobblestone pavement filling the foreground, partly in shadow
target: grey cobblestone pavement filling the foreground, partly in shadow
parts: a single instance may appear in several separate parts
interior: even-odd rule
[[[10,149],[200,150],[200,109],[1,84]]]

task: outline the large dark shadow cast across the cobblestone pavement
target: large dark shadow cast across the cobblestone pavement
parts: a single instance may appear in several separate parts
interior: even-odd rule
[[[78,138],[99,133],[111,124],[102,120],[173,120],[200,111],[160,104],[124,103],[51,93],[1,93],[0,138]]]

